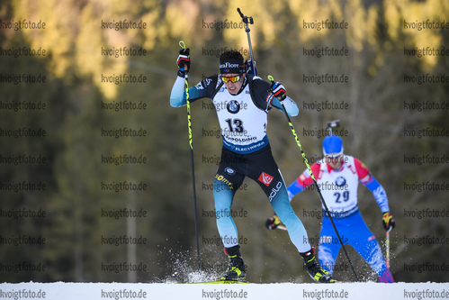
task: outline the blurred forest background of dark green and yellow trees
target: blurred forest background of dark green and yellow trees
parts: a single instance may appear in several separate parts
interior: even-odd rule
[[[4,77],[42,75],[46,82],[0,82],[0,127],[3,131],[43,129],[46,135],[0,136],[0,282],[180,281],[197,270],[187,116],[185,108],[169,105],[169,95],[180,40],[191,49],[191,86],[218,72],[217,53],[225,47],[242,50],[249,58],[238,7],[254,18],[250,34],[258,75],[266,78],[270,74],[282,82],[301,109],[292,123],[310,160],[322,156],[323,136],[317,132],[322,133],[328,121],[339,119],[347,131],[342,136],[346,154],[361,159],[387,191],[397,224],[391,232],[391,271],[396,281],[448,281],[447,187],[423,191],[408,187],[423,182],[449,184],[447,160],[417,160],[423,155],[449,157],[448,134],[418,138],[409,136],[408,131],[449,130],[447,108],[416,106],[423,101],[447,104],[449,85],[406,79],[423,74],[449,76],[447,55],[406,54],[417,48],[449,49],[449,28],[418,30],[407,25],[427,20],[448,23],[447,1],[6,0],[0,7],[2,50],[41,48],[46,55],[15,58],[2,52],[0,73]],[[7,27],[21,20],[41,21],[46,27]],[[124,20],[146,23],[147,27],[114,30],[103,26]],[[348,25],[346,29],[322,30],[306,26],[326,20]],[[218,23],[224,28],[217,27]],[[231,28],[234,23],[239,28]],[[147,52],[118,58],[104,55],[102,50],[114,47]],[[323,47],[343,48],[348,55],[317,57],[305,51]],[[102,75],[125,73],[148,79],[146,83],[119,85],[102,81]],[[316,74],[343,74],[348,80],[319,85],[305,79]],[[7,108],[22,101],[41,102],[46,109]],[[118,112],[104,109],[105,104],[124,101],[142,101],[147,107]],[[323,101],[347,106],[318,109],[316,105]],[[201,268],[218,276],[227,258],[211,216],[213,199],[208,186],[217,168],[221,140],[205,133],[219,127],[210,104],[209,99],[202,99],[192,105],[193,151]],[[274,158],[289,185],[306,167],[284,115],[272,110],[268,118]],[[118,139],[102,135],[102,129],[123,127],[148,134]],[[124,154],[147,160],[118,165],[102,160]],[[46,161],[12,162],[22,155],[41,156]],[[14,192],[7,187],[23,181],[45,184],[46,189]],[[123,181],[141,182],[147,188],[120,192],[102,188],[102,183]],[[242,189],[233,209],[240,213],[235,221],[248,279],[311,282],[287,233],[265,229],[265,220],[273,211],[262,190],[250,180]],[[306,213],[319,212],[318,194],[304,191],[292,205],[317,247],[321,219]],[[359,206],[385,250],[382,214],[364,186],[359,187]],[[116,219],[105,214],[124,208],[144,215]],[[13,217],[23,209],[45,212],[45,216]],[[423,209],[427,214],[419,215]],[[436,215],[436,211],[444,215]],[[146,240],[117,246],[106,242],[124,235]],[[22,236],[45,242],[12,242]],[[420,237],[430,242],[422,244]],[[348,252],[359,277],[376,281],[364,260],[350,247]],[[140,267],[138,271],[117,269],[123,264]],[[346,268],[336,271],[335,277],[353,281],[343,255],[337,264]]]

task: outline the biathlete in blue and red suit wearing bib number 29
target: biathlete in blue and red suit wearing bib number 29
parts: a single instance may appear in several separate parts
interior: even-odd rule
[[[377,273],[380,282],[394,282],[390,269],[383,259],[382,250],[373,233],[368,229],[357,205],[357,187],[360,182],[368,187],[382,211],[383,227],[394,228],[387,194],[363,162],[349,155],[343,155],[343,141],[337,135],[329,135],[323,141],[325,159],[314,163],[313,172],[328,211],[332,216],[341,240],[351,245]],[[288,186],[289,199],[313,184],[309,169],[306,169],[292,185]],[[336,268],[335,261],[341,248],[337,233],[323,206],[323,219],[319,234],[319,263],[330,273]],[[281,221],[277,216],[265,223],[268,229],[276,228]]]

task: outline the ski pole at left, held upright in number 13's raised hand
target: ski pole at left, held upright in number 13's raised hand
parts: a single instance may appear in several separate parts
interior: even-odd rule
[[[179,46],[181,46],[182,49],[186,49],[184,41],[179,41]],[[187,66],[184,65],[184,70],[186,68],[187,68]],[[198,216],[196,213],[195,168],[194,168],[194,164],[193,164],[192,114],[190,111],[189,79],[188,79],[187,72],[185,72],[185,101],[187,102],[187,124],[189,127],[190,161],[191,161],[191,165],[192,165],[193,211],[194,211],[194,220],[195,220],[196,257],[197,257],[197,263],[198,263],[198,271],[201,271],[201,268],[200,268],[200,241],[198,238]]]

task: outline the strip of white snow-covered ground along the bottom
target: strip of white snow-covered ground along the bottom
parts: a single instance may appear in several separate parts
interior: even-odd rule
[[[380,284],[131,284],[19,283],[0,284],[0,299],[448,299],[449,283]]]

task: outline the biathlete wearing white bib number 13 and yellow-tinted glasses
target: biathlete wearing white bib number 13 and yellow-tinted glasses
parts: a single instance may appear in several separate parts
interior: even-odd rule
[[[188,49],[180,51],[177,64],[178,76],[170,95],[170,105],[174,107],[186,105],[184,76],[190,68]],[[245,177],[250,177],[262,187],[274,212],[287,226],[292,243],[304,259],[310,277],[319,282],[332,282],[330,273],[319,267],[307,232],[293,212],[266,136],[270,105],[282,110],[280,101],[283,101],[288,114],[299,113],[298,106],[286,95],[283,85],[278,82],[270,85],[260,77],[247,74],[242,55],[230,50],[220,56],[220,75],[204,78],[188,92],[192,103],[200,98],[210,98],[220,123],[223,148],[213,181],[213,198],[215,211],[220,212],[216,218],[217,228],[229,257],[229,267],[221,279],[246,277],[238,231],[230,210],[238,187]]]

